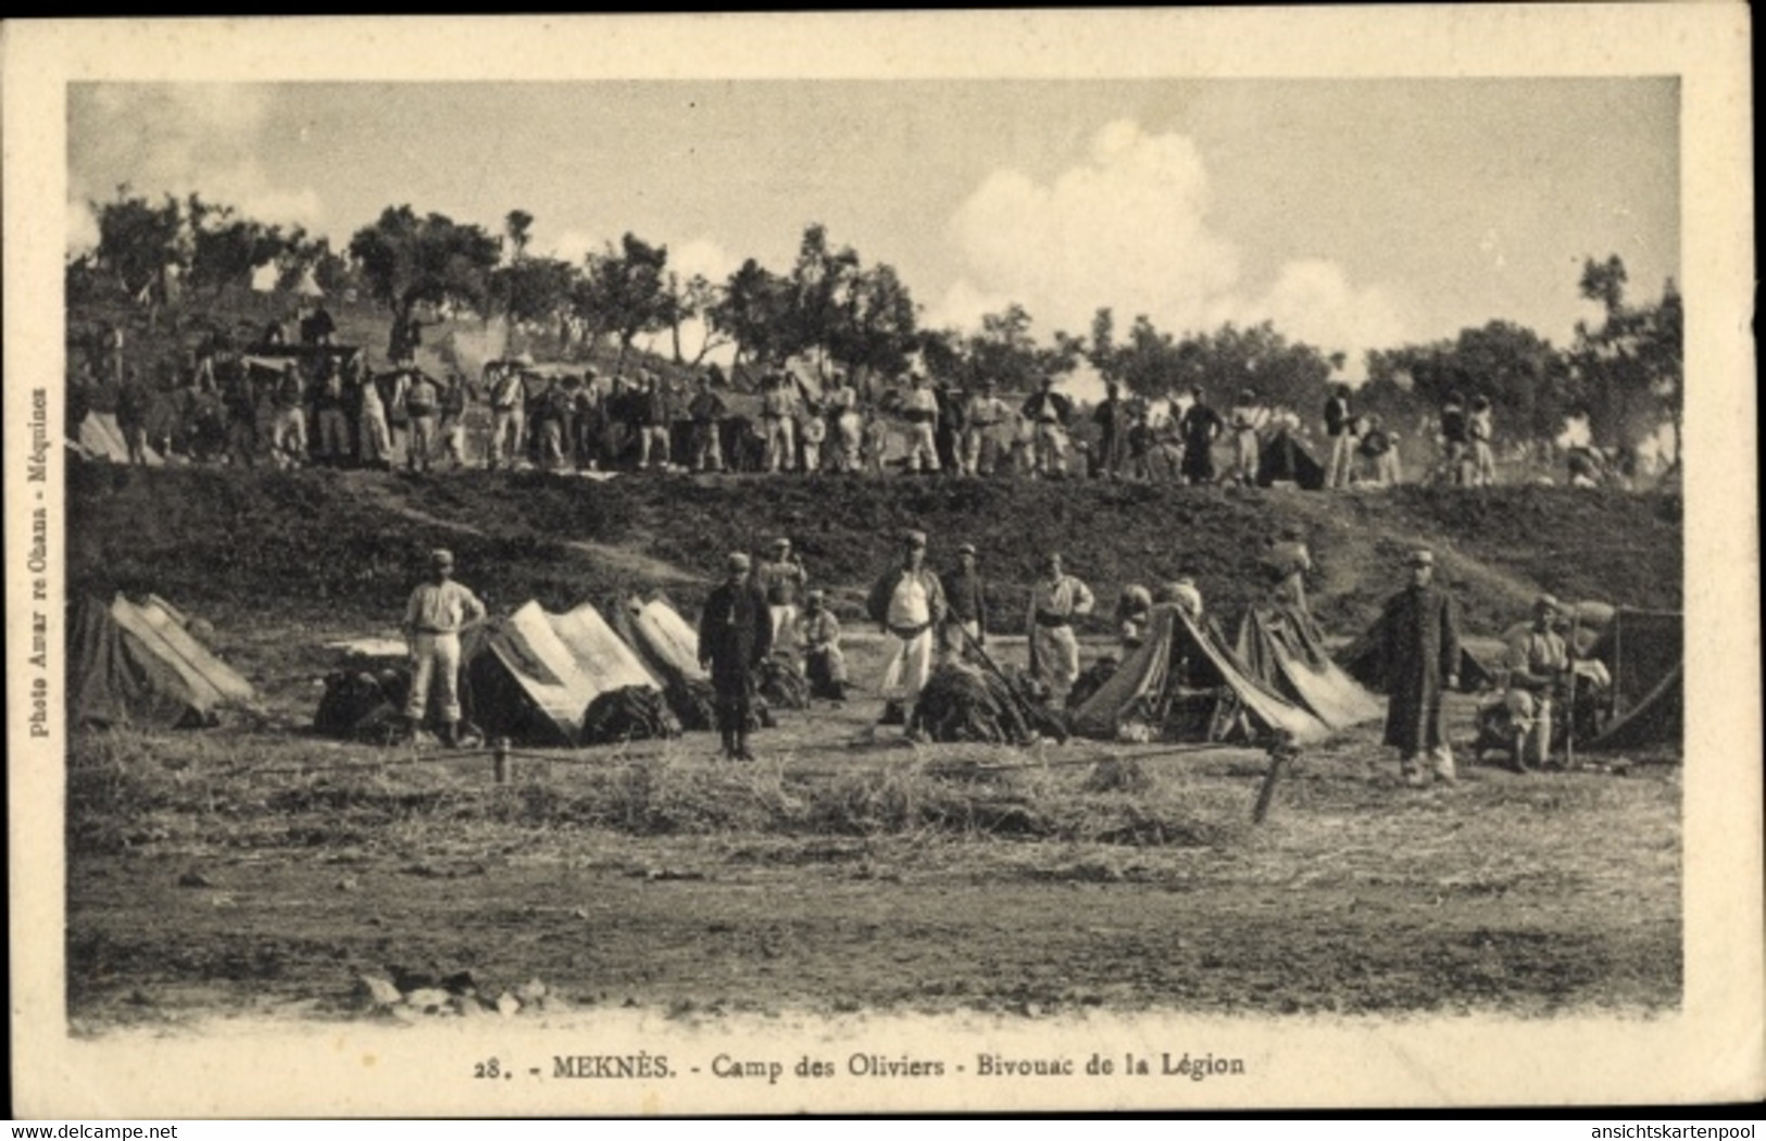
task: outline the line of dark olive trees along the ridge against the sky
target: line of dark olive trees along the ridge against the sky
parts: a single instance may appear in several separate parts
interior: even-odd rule
[[[668,246],[634,233],[581,261],[533,254],[535,219],[526,210],[510,210],[502,231],[491,233],[410,205],[387,207],[334,251],[298,226],[263,224],[198,194],[154,203],[118,187],[115,200],[92,208],[99,242],[69,261],[71,304],[102,284],[150,311],[173,295],[201,304],[274,265],[284,288],[311,279],[327,295],[355,290],[373,298],[394,330],[424,307],[475,313],[542,336],[563,359],[613,348],[620,369],[638,341],[659,336],[687,367],[729,348],[733,373],[802,360],[823,373],[842,369],[860,389],[920,367],[954,387],[991,380],[1023,390],[1086,362],[1143,399],[1201,387],[1215,403],[1231,403],[1250,390],[1261,403],[1303,413],[1323,404],[1346,366],[1342,353],[1291,341],[1268,321],[1174,334],[1148,314],[1118,323],[1100,307],[1083,334],[1053,330],[1044,339],[1031,314],[1008,304],[973,332],[931,329],[892,265],[865,263],[821,224],[804,230],[791,265],[770,268],[749,258],[712,281],[682,272]],[[1452,339],[1370,350],[1356,401],[1411,417],[1455,392],[1483,394],[1505,434],[1528,440],[1556,436],[1566,415],[1586,415],[1596,442],[1609,445],[1664,419],[1678,429],[1683,329],[1672,279],[1658,300],[1635,302],[1619,258],[1589,258],[1579,291],[1602,306],[1602,318],[1579,323],[1566,348],[1492,320]]]

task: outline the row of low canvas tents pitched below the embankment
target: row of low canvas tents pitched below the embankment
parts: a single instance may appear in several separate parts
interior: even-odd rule
[[[708,682],[698,662],[698,636],[666,599],[627,599],[549,613],[526,602],[463,638],[461,703],[486,733],[523,744],[579,745],[597,701],[609,694],[657,694],[685,728],[705,728]],[[69,620],[69,712],[76,726],[214,724],[224,707],[253,707],[244,676],[210,654],[192,622],[157,597],[109,604],[85,601]],[[198,627],[200,629],[200,627]],[[1604,662],[1611,707],[1588,749],[1635,749],[1674,742],[1683,726],[1683,622],[1679,613],[1616,609],[1579,625],[1577,654]],[[1305,615],[1252,608],[1229,643],[1211,618],[1192,618],[1176,604],[1153,608],[1143,645],[1072,712],[1083,737],[1227,740],[1284,733],[1316,742],[1335,729],[1374,721],[1383,705],[1385,664],[1377,631],[1353,643],[1344,666],[1326,654]],[[378,662],[396,671],[396,657]],[[367,678],[371,703],[385,712],[403,692],[381,685],[373,662],[334,675],[321,701],[320,728],[364,735],[367,708],[337,698]],[[1460,685],[1494,684],[1469,652]],[[327,715],[327,703],[332,714]],[[341,710],[341,712],[339,712]]]

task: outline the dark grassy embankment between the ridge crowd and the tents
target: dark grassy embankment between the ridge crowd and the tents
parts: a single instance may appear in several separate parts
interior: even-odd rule
[[[1100,609],[1130,581],[1197,578],[1233,615],[1261,590],[1257,558],[1298,526],[1317,565],[1316,609],[1362,629],[1402,581],[1402,553],[1432,546],[1473,629],[1524,613],[1536,590],[1628,606],[1681,606],[1674,496],[1499,487],[1369,495],[1146,487],[1100,482],[620,477],[606,482],[463,472],[69,472],[76,590],[154,590],[198,611],[332,615],[385,623],[422,553],[454,548],[494,606],[551,608],[618,590],[703,597],[731,549],[789,535],[837,609],[857,615],[904,526],[947,565],[975,542],[1000,629],[1017,629],[1040,553],[1060,549]],[[1098,627],[1102,629],[1102,625]]]

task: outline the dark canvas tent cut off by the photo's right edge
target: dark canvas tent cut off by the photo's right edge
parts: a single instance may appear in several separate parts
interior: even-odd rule
[[[1612,717],[1584,747],[1672,745],[1685,724],[1685,620],[1674,611],[1619,609],[1589,650],[1612,676]]]

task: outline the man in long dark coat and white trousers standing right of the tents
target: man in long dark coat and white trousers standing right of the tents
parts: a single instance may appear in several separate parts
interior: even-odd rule
[[[1459,685],[1459,608],[1434,585],[1434,553],[1411,555],[1411,585],[1386,602],[1385,639],[1386,744],[1399,751],[1404,782],[1420,788],[1427,777],[1416,754],[1427,752],[1434,777],[1453,782],[1453,752],[1441,728],[1441,694]]]

